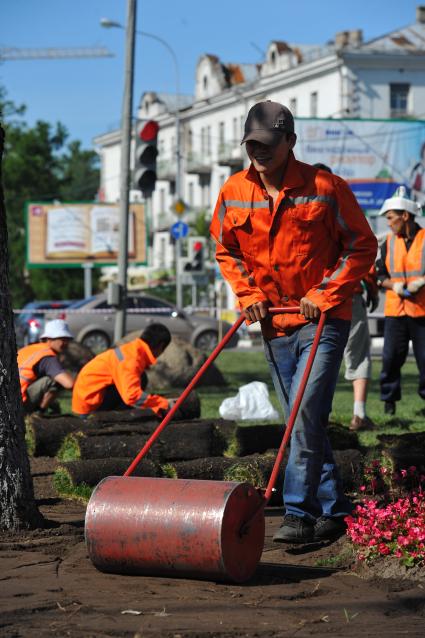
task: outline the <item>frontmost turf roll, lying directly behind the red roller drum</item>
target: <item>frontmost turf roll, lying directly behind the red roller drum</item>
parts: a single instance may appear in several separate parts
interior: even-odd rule
[[[130,465],[128,459],[84,459],[60,463],[53,475],[53,485],[61,495],[76,494],[78,487],[95,487],[107,476],[122,476]],[[157,463],[142,459],[132,476],[162,476]],[[89,496],[89,494],[88,494]]]

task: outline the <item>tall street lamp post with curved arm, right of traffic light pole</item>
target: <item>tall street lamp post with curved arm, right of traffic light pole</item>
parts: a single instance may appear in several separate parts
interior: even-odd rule
[[[116,22],[115,20],[109,20],[108,18],[102,18],[100,21],[102,27],[105,28],[118,28],[124,29],[123,25],[120,22]],[[175,54],[174,49],[168,44],[166,40],[160,38],[153,33],[147,33],[146,31],[138,31],[136,30],[137,35],[141,35],[147,38],[151,38],[152,40],[156,40],[162,46],[164,46],[173,59],[174,72],[175,72],[175,81],[176,81],[176,106],[175,106],[175,127],[176,127],[176,200],[180,201],[182,199],[182,171],[181,171],[181,153],[180,153],[180,115],[179,115],[179,97],[180,97],[180,72],[179,65],[177,62],[177,56]],[[177,238],[175,243],[175,265],[176,265],[176,302],[177,306],[181,307],[183,305],[183,297],[182,297],[182,284],[181,284],[181,272],[180,272],[180,257],[181,257],[181,239]]]

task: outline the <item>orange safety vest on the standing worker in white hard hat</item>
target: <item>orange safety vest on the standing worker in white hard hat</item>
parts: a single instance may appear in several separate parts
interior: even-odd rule
[[[425,229],[415,235],[409,250],[403,237],[394,233],[387,235],[387,254],[385,266],[391,281],[408,284],[418,277],[425,276]],[[384,313],[387,317],[424,317],[425,287],[414,296],[402,299],[394,290],[386,290]]]

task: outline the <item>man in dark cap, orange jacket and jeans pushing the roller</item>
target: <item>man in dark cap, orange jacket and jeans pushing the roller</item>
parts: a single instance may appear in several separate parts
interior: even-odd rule
[[[350,330],[351,299],[376,255],[376,239],[340,177],[298,162],[291,112],[253,106],[242,143],[248,170],[222,187],[211,233],[216,258],[264,349],[286,417],[292,408],[321,312],[326,321],[290,445],[285,516],[278,542],[306,543],[344,532],[352,511],[326,435]],[[299,305],[300,314],[268,314]]]

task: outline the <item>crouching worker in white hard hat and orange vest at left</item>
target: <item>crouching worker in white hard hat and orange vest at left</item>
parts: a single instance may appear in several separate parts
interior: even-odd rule
[[[46,323],[40,343],[18,350],[19,382],[26,413],[44,412],[52,406],[60,390],[70,390],[74,385],[72,375],[58,359],[72,339],[65,321],[53,319]]]

